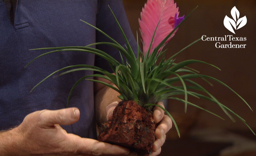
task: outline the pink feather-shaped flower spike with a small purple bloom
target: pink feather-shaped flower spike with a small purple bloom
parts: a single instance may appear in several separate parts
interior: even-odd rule
[[[144,56],[148,51],[152,36],[159,21],[149,54],[151,54],[155,47],[184,19],[184,16],[178,18],[178,10],[179,8],[176,7],[176,3],[174,3],[173,0],[148,0],[144,5],[142,12],[140,12],[141,19],[139,19]],[[165,44],[175,35],[175,32]],[[160,50],[162,48],[163,46]]]

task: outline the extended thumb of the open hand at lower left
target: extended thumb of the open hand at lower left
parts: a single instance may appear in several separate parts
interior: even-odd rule
[[[55,124],[70,125],[79,120],[78,108],[64,108],[59,110],[43,110],[39,114],[39,124],[43,127],[52,127]]]

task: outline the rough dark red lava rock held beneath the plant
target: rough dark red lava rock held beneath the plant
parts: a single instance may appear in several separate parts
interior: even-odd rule
[[[124,101],[101,126],[98,140],[125,146],[141,155],[149,154],[155,141],[155,129],[152,113],[135,101]]]

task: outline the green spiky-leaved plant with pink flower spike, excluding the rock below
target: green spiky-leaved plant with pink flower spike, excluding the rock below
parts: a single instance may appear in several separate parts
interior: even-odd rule
[[[238,95],[234,90],[232,90],[230,87],[228,87],[225,83],[221,82],[220,80],[213,78],[211,76],[198,74],[199,72],[197,70],[189,68],[187,66],[192,63],[202,63],[202,64],[210,65],[220,70],[218,67],[212,64],[206,63],[204,61],[199,61],[199,60],[185,60],[179,63],[175,63],[174,57],[176,57],[180,52],[186,50],[188,47],[190,47],[194,43],[200,41],[201,37],[198,40],[186,46],[185,48],[183,48],[182,50],[180,50],[179,52],[172,55],[172,57],[165,58],[165,53],[167,51],[164,50],[164,45],[175,35],[178,28],[180,27],[180,24],[182,24],[189,17],[190,14],[188,14],[186,18],[184,18],[184,16],[178,17],[179,11],[178,11],[178,8],[176,8],[176,4],[174,4],[173,0],[163,0],[163,1],[148,0],[147,4],[145,4],[140,14],[141,19],[139,19],[140,33],[141,33],[143,46],[141,51],[139,46],[139,37],[137,33],[137,46],[138,46],[137,56],[134,55],[134,52],[130,46],[130,43],[128,42],[124,34],[124,31],[120,26],[118,20],[116,19],[114,13],[113,15],[114,15],[114,18],[116,19],[116,23],[118,24],[120,31],[122,32],[124,39],[126,41],[126,48],[121,46],[117,41],[112,39],[110,36],[108,36],[106,33],[101,31],[97,27],[94,27],[93,25],[87,23],[86,21],[81,20],[82,22],[95,28],[97,31],[99,31],[100,33],[108,37],[112,42],[92,43],[87,46],[40,48],[36,50],[47,49],[47,50],[53,50],[53,51],[46,52],[36,57],[35,59],[53,52],[61,52],[61,51],[87,52],[87,53],[98,55],[106,59],[110,67],[112,68],[114,74],[102,68],[99,68],[97,66],[91,66],[91,65],[67,66],[48,75],[36,86],[38,86],[40,83],[42,83],[44,80],[46,80],[53,74],[61,72],[66,69],[68,70],[65,72],[62,72],[60,75],[68,74],[70,72],[75,72],[75,71],[81,71],[81,70],[92,70],[95,72],[100,72],[102,74],[85,75],[84,77],[79,79],[70,90],[68,101],[76,85],[81,81],[88,80],[92,82],[102,83],[112,88],[113,90],[116,90],[118,93],[120,93],[120,96],[118,97],[122,101],[134,100],[138,105],[146,108],[147,110],[152,110],[153,106],[158,106],[162,108],[165,111],[165,113],[172,119],[173,124],[175,125],[175,128],[179,136],[180,136],[180,132],[175,120],[173,119],[172,115],[168,113],[167,110],[165,110],[163,107],[159,105],[156,105],[158,101],[161,101],[163,99],[174,99],[185,104],[185,112],[187,111],[187,105],[192,105],[208,113],[211,113],[219,117],[220,119],[223,119],[219,115],[212,113],[188,101],[188,95],[197,97],[197,98],[203,98],[219,105],[220,108],[228,115],[228,117],[232,121],[235,121],[235,120],[230,115],[230,113],[234,114],[241,121],[243,121],[246,126],[248,126],[245,123],[243,118],[241,118],[239,115],[234,113],[227,106],[220,103],[212,94],[210,94],[207,90],[205,90],[200,84],[192,81],[191,79],[201,78],[203,81],[206,81],[206,82],[208,82],[206,79],[211,79],[213,81],[219,82],[220,84],[224,85],[229,90],[234,92],[251,109],[249,104],[240,95]],[[100,51],[98,49],[91,47],[92,45],[99,45],[99,44],[112,46],[116,48],[118,51],[120,51],[120,57],[122,59],[122,62],[121,63],[118,62],[116,59],[114,59],[104,51]],[[126,62],[124,61],[122,55],[127,59]],[[33,59],[31,62],[33,62],[35,59]],[[157,61],[159,62],[159,64],[157,64]],[[30,64],[31,62],[29,62],[28,64]],[[186,73],[186,74],[181,74],[181,73]],[[106,82],[101,82],[94,79],[87,79],[88,77],[100,77],[100,78],[106,79],[114,83],[116,87]],[[181,82],[182,85],[175,85],[174,82]],[[210,82],[208,83],[211,84]],[[204,95],[201,93],[198,93],[197,91],[204,92]],[[184,99],[175,97],[175,95],[184,95]],[[67,105],[68,105],[68,101],[67,101]],[[249,126],[248,128],[252,131],[252,129]],[[253,131],[252,133],[255,135]]]

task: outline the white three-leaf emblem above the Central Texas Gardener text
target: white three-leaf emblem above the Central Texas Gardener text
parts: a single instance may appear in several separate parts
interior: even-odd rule
[[[239,11],[236,9],[236,6],[234,6],[232,9],[231,9],[231,16],[233,17],[233,19],[229,18],[227,15],[225,16],[224,18],[224,26],[229,30],[231,31],[232,33],[236,34],[234,29],[237,30],[241,27],[244,27],[246,22],[247,22],[247,19],[246,17],[242,17],[239,19]],[[237,20],[236,20],[237,19]],[[233,27],[232,27],[233,26]]]

